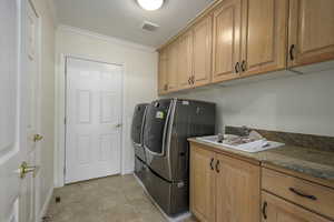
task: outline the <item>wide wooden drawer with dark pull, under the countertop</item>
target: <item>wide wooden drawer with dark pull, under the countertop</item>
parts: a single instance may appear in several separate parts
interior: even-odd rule
[[[333,189],[264,168],[262,188],[285,200],[334,219]]]

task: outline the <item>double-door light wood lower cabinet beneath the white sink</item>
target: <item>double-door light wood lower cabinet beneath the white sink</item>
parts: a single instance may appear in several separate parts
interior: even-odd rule
[[[205,222],[259,221],[259,165],[191,143],[190,211]]]

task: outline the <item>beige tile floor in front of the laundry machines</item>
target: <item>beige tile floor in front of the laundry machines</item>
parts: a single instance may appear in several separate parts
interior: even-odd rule
[[[56,196],[60,196],[59,203]],[[56,189],[47,215],[49,222],[167,221],[134,175],[108,176]]]

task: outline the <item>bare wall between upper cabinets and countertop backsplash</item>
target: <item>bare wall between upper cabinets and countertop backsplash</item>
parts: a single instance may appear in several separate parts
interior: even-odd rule
[[[175,97],[217,103],[217,131],[248,125],[334,135],[334,70],[230,87],[209,87]]]

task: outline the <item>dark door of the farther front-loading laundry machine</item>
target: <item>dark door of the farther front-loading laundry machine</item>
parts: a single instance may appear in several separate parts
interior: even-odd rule
[[[147,103],[136,105],[131,124],[131,140],[135,148],[135,154],[143,161],[145,161],[146,158],[143,148],[143,127],[147,105]]]

